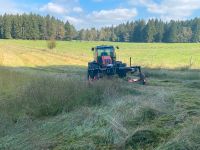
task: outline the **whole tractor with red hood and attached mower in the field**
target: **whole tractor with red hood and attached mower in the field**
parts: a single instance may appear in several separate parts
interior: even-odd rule
[[[145,75],[142,73],[141,67],[131,66],[131,58],[129,67],[126,63],[117,61],[115,49],[119,49],[119,47],[101,45],[92,48],[94,60],[88,63],[88,80],[94,81],[104,76],[118,76],[127,79],[128,82],[145,84]],[[134,78],[127,77],[128,73]]]

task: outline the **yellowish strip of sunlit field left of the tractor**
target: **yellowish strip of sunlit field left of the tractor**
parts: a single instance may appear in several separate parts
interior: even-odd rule
[[[50,51],[19,45],[1,45],[0,65],[2,66],[53,66],[84,64],[86,58],[70,56]]]

